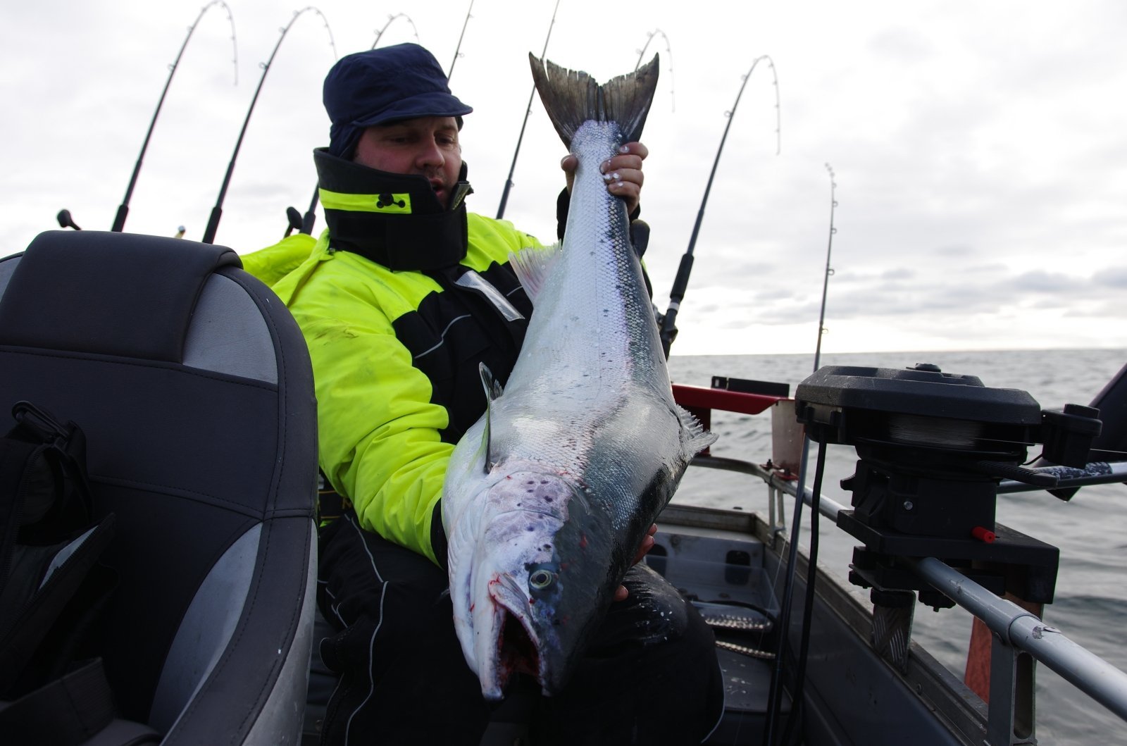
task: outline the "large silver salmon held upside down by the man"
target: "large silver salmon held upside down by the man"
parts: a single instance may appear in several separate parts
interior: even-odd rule
[[[454,625],[486,698],[559,692],[690,459],[715,441],[673,401],[625,204],[600,165],[638,140],[657,59],[598,86],[531,57],[578,157],[564,246],[512,257],[535,312],[504,392],[458,443],[442,519]]]

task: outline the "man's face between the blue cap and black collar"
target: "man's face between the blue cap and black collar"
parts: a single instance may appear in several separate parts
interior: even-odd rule
[[[353,160],[391,174],[425,176],[445,207],[462,170],[458,122],[452,116],[428,116],[369,127]]]

